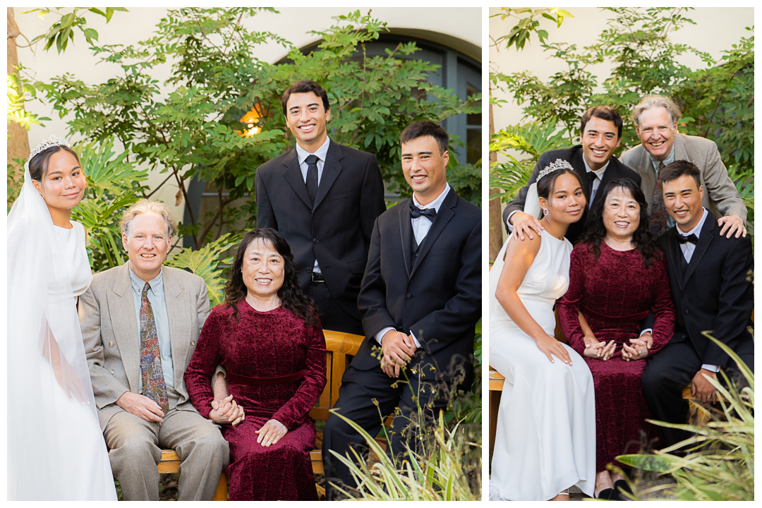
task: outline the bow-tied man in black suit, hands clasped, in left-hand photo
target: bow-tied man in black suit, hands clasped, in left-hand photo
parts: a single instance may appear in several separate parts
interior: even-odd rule
[[[404,452],[409,436],[403,430],[415,420],[416,391],[421,407],[433,403],[427,414],[434,417],[447,399],[432,396],[432,388],[443,382],[452,389],[472,378],[475,324],[482,315],[482,212],[447,184],[448,141],[447,131],[431,122],[413,123],[402,133],[402,171],[413,197],[373,226],[357,300],[366,337],[341,379],[335,404],[371,436],[383,423],[379,411],[386,417],[399,407],[390,437],[393,456]],[[381,350],[380,361],[374,348]],[[362,443],[344,420],[328,418],[328,481],[353,485],[330,450],[344,456]]]

